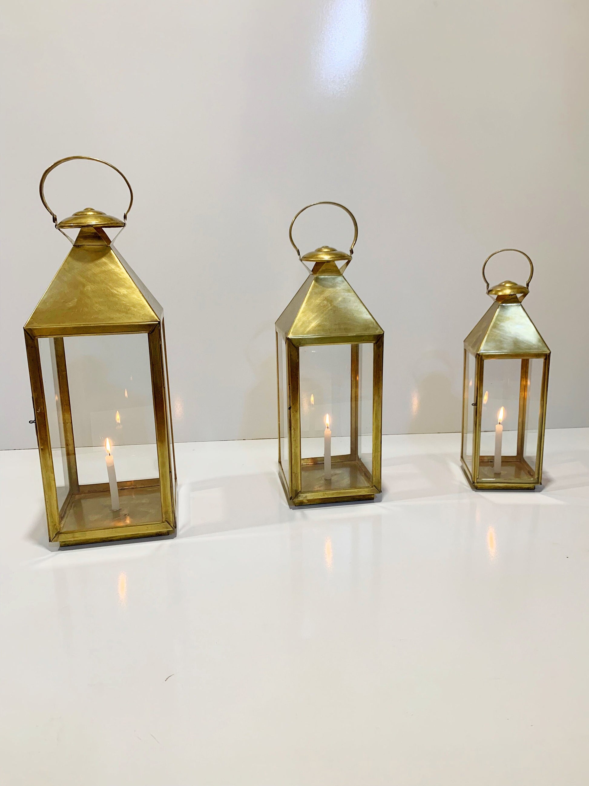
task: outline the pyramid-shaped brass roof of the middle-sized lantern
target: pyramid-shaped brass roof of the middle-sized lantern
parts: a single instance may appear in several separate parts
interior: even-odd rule
[[[276,330],[298,347],[371,342],[383,333],[334,261],[316,263],[277,319]]]

